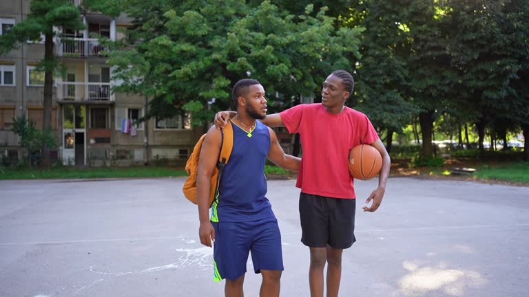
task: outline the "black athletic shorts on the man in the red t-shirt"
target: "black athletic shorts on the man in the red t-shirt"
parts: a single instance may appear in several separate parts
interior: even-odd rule
[[[355,239],[356,199],[300,194],[301,242],[311,248],[350,248]]]

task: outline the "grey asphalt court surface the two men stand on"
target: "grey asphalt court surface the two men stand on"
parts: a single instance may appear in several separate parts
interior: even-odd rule
[[[0,296],[223,296],[184,179],[0,181]],[[295,181],[269,181],[282,296],[309,296]],[[340,296],[529,296],[529,188],[393,178],[357,182],[357,242]],[[251,260],[245,296],[258,296]]]

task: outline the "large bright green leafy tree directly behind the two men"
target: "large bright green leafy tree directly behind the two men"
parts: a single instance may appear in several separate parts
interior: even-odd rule
[[[293,15],[269,1],[125,0],[132,49],[110,52],[116,89],[152,98],[147,118],[189,112],[193,124],[225,109],[240,78],[260,80],[270,111],[311,96],[325,76],[351,69],[360,28],[335,29],[326,8]],[[216,98],[214,106],[211,98]]]

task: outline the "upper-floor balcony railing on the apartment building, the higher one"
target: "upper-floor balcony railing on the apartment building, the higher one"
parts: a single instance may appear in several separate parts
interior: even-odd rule
[[[107,48],[98,39],[64,38],[59,44],[59,56],[63,57],[100,57]]]

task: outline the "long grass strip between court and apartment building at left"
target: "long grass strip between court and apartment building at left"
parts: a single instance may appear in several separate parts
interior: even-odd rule
[[[0,179],[98,179],[123,177],[177,177],[187,176],[185,170],[163,166],[71,168],[0,168]]]

